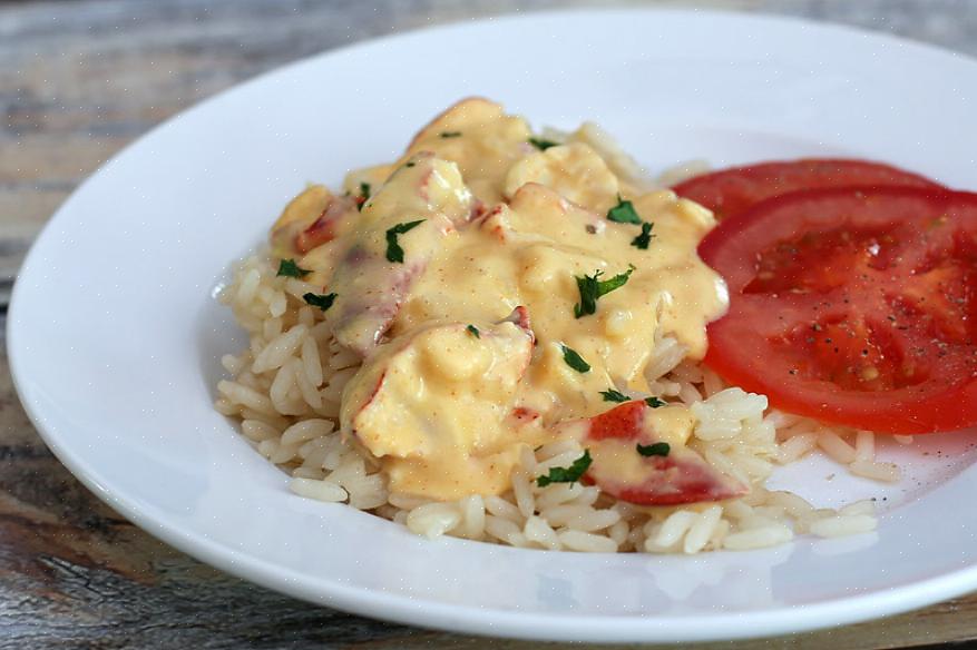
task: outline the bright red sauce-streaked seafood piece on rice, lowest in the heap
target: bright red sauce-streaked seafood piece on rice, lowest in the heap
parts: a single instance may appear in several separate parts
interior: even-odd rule
[[[586,444],[593,459],[588,481],[639,505],[719,501],[749,491],[684,445],[671,445],[666,455],[638,453],[638,444],[662,442],[651,411],[644,402],[626,402],[587,421]]]

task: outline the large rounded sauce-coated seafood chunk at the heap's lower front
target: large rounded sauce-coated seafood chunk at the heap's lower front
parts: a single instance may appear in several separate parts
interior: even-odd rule
[[[531,334],[509,322],[421,328],[380,346],[351,380],[342,426],[383,460],[395,491],[463,495],[457,485],[473,471],[501,491],[519,449],[505,421],[531,353]],[[438,481],[419,480],[433,465]]]

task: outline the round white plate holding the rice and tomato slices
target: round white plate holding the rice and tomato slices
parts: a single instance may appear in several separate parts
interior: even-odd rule
[[[167,122],[63,205],[14,289],[17,386],[58,457],[150,533],[368,615],[540,639],[703,640],[957,595],[977,588],[973,436],[883,449],[914,476],[888,490],[842,472],[827,481],[827,463],[779,477],[824,504],[887,498],[878,534],[695,558],[430,542],[294,496],[211,407],[217,360],[241,344],[212,294],[306,180],[338,184],[394,158],[463,96],[537,126],[598,120],[653,170],[841,154],[977,188],[975,82],[974,61],[931,48],[706,12],[533,14],[315,57]]]

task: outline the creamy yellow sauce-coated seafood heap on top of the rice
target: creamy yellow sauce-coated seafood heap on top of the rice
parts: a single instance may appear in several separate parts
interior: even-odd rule
[[[343,211],[335,238],[301,259],[314,272],[306,279],[338,295],[325,315],[336,339],[363,356],[341,425],[383,463],[394,492],[504,492],[521,450],[557,435],[560,422],[608,410],[602,391],[646,391],[656,339],[673,336],[703,356],[705,325],[726,307],[721,278],[695,254],[713,226],[709,210],[668,190],[637,195],[587,144],[540,151],[529,137],[498,105],[460,102],[394,165],[351,173],[348,191],[371,183],[373,197],[359,214]],[[605,218],[618,196],[654,224],[647,249],[632,244],[639,226]],[[320,218],[330,197],[315,189],[296,201],[305,216],[295,208],[273,230],[282,257],[282,242]],[[388,260],[388,229],[419,219],[400,238],[403,263]],[[575,317],[577,277],[629,267],[596,313]],[[529,331],[504,322],[520,306]],[[566,347],[590,370],[570,367]],[[674,413],[655,415],[656,426],[683,445],[693,423],[686,410]],[[643,471],[633,447],[619,455],[606,463]]]

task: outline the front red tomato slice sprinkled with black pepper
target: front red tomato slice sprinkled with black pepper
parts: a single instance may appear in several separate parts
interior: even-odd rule
[[[901,434],[977,424],[977,194],[788,194],[698,247],[730,312],[705,362],[772,405]]]

